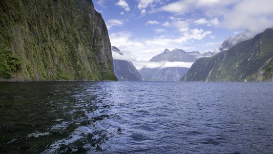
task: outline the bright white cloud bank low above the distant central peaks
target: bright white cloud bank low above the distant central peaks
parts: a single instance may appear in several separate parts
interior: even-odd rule
[[[211,34],[211,31],[204,31],[203,29],[185,29],[184,32],[181,32],[180,37],[161,35],[150,39],[140,39],[134,38],[130,32],[110,33],[109,36],[113,46],[116,46],[121,51],[131,52],[138,61],[148,61],[153,56],[163,52],[165,48],[196,50],[195,46],[186,46],[186,44],[189,41],[202,40],[209,34]]]

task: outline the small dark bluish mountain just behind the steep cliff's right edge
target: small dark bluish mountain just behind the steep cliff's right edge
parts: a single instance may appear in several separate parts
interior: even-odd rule
[[[120,55],[123,53],[114,46],[111,46],[112,52],[116,52]],[[114,71],[118,78],[118,81],[143,81],[142,76],[137,71],[136,67],[132,62],[124,60],[113,60],[114,62]]]

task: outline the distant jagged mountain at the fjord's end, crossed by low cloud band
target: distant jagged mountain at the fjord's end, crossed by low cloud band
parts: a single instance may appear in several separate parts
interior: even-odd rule
[[[199,51],[186,52],[182,49],[174,49],[172,51],[165,49],[164,52],[152,57],[149,62],[167,63],[167,62],[187,62],[193,63],[200,57],[212,56],[211,51],[201,54]],[[145,81],[179,81],[181,77],[187,72],[187,67],[158,67],[149,68],[143,67],[139,73],[143,76]]]

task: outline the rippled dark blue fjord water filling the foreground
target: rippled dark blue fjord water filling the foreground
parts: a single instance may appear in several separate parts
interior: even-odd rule
[[[271,153],[273,83],[0,83],[0,153]]]

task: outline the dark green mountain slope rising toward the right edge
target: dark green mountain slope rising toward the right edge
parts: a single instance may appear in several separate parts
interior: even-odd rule
[[[197,60],[183,81],[273,81],[273,29]]]

